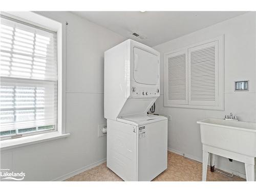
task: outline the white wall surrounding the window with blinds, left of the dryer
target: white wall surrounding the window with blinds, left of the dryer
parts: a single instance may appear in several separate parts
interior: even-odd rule
[[[26,181],[63,179],[66,174],[75,170],[81,172],[83,168],[105,160],[106,137],[98,137],[98,124],[105,123],[103,53],[125,40],[70,12],[38,13],[61,22],[64,35],[66,21],[69,23],[66,93],[63,97],[66,96],[66,130],[71,136],[2,151],[1,168],[25,172]],[[65,51],[65,39],[63,42]]]

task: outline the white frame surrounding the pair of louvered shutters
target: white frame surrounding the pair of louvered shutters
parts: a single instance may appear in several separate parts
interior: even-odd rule
[[[186,66],[187,71],[189,71],[189,61],[188,61],[188,54],[189,49],[201,46],[204,44],[208,44],[210,42],[218,41],[218,97],[217,105],[196,105],[196,104],[177,104],[177,103],[170,103],[168,100],[168,63],[167,63],[167,56],[170,54],[175,54],[177,52],[185,52],[186,53]],[[187,74],[187,101],[189,101],[189,76]],[[164,106],[173,107],[173,108],[189,108],[189,109],[203,109],[203,110],[217,110],[217,111],[224,111],[224,34],[215,38],[207,39],[201,42],[198,42],[193,45],[189,45],[180,49],[176,49],[173,51],[168,51],[164,53]]]

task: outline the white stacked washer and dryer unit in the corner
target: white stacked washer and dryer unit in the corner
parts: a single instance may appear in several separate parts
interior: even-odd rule
[[[159,52],[131,39],[105,51],[106,166],[124,181],[151,181],[167,168],[167,118],[147,114],[159,89]]]

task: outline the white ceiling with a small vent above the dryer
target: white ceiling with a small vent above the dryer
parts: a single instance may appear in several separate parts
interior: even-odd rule
[[[124,37],[156,46],[244,14],[242,11],[75,11],[74,14]],[[142,38],[131,35],[138,33]]]

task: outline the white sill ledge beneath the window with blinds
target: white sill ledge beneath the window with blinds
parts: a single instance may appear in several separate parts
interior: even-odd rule
[[[60,134],[58,132],[44,133],[40,135],[31,135],[15,139],[8,139],[0,141],[0,151],[10,150],[11,148],[51,141],[55,139],[65,138],[70,134]]]

